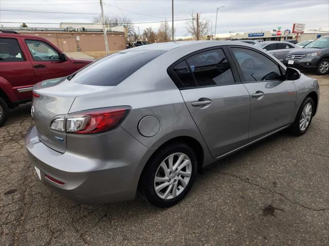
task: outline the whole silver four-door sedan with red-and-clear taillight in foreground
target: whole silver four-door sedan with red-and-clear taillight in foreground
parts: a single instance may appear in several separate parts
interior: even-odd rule
[[[252,66],[250,66],[252,64]],[[316,80],[249,44],[145,45],[33,87],[36,174],[81,203],[176,204],[203,167],[289,128],[304,134]]]

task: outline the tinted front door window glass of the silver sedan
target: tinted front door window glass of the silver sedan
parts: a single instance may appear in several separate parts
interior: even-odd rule
[[[258,52],[231,48],[244,75],[244,82],[280,80],[279,66]]]

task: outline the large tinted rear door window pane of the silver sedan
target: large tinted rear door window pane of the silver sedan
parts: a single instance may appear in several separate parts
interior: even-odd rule
[[[208,50],[187,59],[197,86],[234,83],[230,64],[222,49]]]

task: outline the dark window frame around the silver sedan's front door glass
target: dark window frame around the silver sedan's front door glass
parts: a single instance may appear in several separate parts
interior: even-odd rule
[[[228,52],[230,53],[231,55],[231,58],[234,62],[234,65],[236,67],[236,69],[239,71],[239,76],[240,76],[240,80],[241,80],[241,83],[243,84],[246,84],[246,83],[260,83],[260,82],[265,82],[264,80],[260,80],[260,81],[245,81],[245,77],[244,77],[244,74],[243,74],[243,71],[240,67],[240,64],[239,62],[236,60],[235,56],[234,56],[234,53],[232,51],[231,48],[241,48],[241,49],[248,49],[248,50],[251,50],[251,51],[254,51],[254,52],[257,52],[263,56],[265,56],[267,59],[271,60],[273,63],[275,63],[278,68],[279,68],[279,71],[281,73],[281,79],[280,80],[266,80],[266,82],[270,82],[270,81],[284,81],[284,75],[285,75],[285,69],[277,62],[275,61],[274,59],[272,59],[270,56],[268,56],[266,53],[262,52],[262,51],[259,51],[257,49],[253,49],[253,48],[250,48],[250,47],[247,47],[247,46],[239,46],[239,45],[229,45],[227,47],[228,49]]]

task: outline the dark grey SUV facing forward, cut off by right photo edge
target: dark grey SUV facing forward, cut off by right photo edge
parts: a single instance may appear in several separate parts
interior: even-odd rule
[[[287,67],[316,71],[320,75],[329,72],[329,36],[320,37],[302,49],[290,51],[283,61]]]

